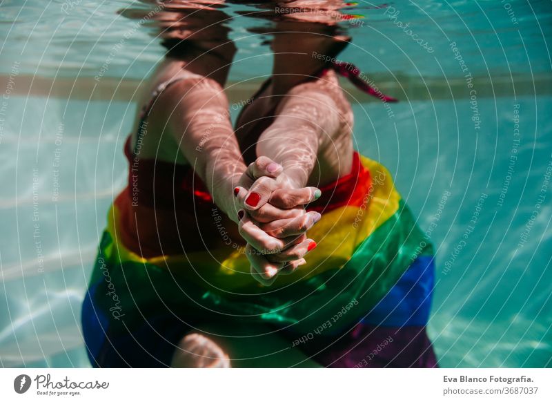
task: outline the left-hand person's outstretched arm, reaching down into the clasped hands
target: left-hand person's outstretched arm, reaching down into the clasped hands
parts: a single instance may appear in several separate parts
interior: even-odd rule
[[[246,166],[237,144],[228,113],[228,101],[224,90],[210,79],[186,79],[170,87],[166,99],[172,99],[176,106],[167,111],[170,132],[175,135],[181,153],[213,195],[213,200],[235,222],[243,200],[235,193],[237,186],[248,189],[255,180],[269,180],[275,188],[275,178],[282,173],[282,166],[273,163],[268,157],[259,157]],[[259,182],[259,181],[257,181]],[[246,189],[242,189],[244,193]],[[297,218],[301,213],[289,211],[297,204],[312,200],[315,188],[294,190],[293,200],[275,200],[276,207],[266,205],[257,211],[256,218],[262,222],[278,219]],[[257,238],[258,236],[256,236]],[[268,242],[268,235],[259,239]]]

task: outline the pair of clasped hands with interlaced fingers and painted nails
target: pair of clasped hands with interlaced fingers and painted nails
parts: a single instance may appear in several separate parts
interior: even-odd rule
[[[247,242],[251,274],[263,285],[306,264],[304,256],[316,247],[306,231],[321,216],[305,205],[320,195],[316,187],[297,188],[282,165],[264,156],[240,178],[234,189],[239,233]]]

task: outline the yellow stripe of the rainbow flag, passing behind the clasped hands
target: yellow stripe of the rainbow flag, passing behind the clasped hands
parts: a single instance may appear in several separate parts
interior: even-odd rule
[[[355,249],[397,211],[400,195],[387,169],[366,157],[360,158],[372,178],[371,191],[366,195],[362,206],[339,207],[323,213],[319,222],[307,233],[309,238],[317,242],[316,249],[308,253],[307,264],[299,267],[293,274],[279,276],[273,287],[286,286],[328,269],[343,267]],[[251,276],[250,265],[243,249],[215,249],[186,255],[141,258],[127,249],[119,240],[120,236],[117,236],[119,211],[115,205],[109,216],[108,231],[115,242],[112,258],[117,262],[148,262],[210,289],[230,292],[266,289]]]

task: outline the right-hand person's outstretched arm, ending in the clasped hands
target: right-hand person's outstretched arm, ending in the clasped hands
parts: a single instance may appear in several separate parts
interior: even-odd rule
[[[315,187],[304,186],[318,162],[319,151],[328,148],[328,142],[333,143],[335,133],[339,132],[341,126],[335,101],[316,83],[297,86],[286,96],[287,99],[279,105],[275,113],[275,121],[262,133],[257,142],[257,155],[269,157],[270,160],[281,164],[284,171],[276,180],[260,178],[250,186],[249,191],[243,190],[238,194],[248,214],[257,221],[258,229],[262,228],[262,231],[277,237],[286,238],[291,235],[289,238],[293,239],[292,243],[295,244],[286,251],[275,254],[268,252],[267,254],[271,254],[268,256],[252,255],[249,258],[252,272],[257,274],[255,278],[264,285],[270,285],[284,267],[293,270],[304,263],[302,257],[313,249],[316,243],[304,235],[297,236],[299,232],[288,230],[292,226],[308,230],[319,220],[320,215],[311,212],[299,218],[290,217],[288,220],[266,220],[267,223],[259,223],[264,221],[263,209],[281,203],[308,204],[319,197],[319,190]],[[248,204],[248,198],[255,193],[259,202],[255,205]],[[290,212],[299,210],[304,212],[302,208],[295,208]],[[248,224],[251,225],[250,220],[244,218],[239,225],[244,238],[248,238]],[[250,241],[249,244],[255,243]],[[293,264],[286,265],[286,260],[293,260]]]

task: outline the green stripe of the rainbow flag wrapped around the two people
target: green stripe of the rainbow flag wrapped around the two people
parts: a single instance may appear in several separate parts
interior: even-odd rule
[[[92,283],[99,283],[97,300],[105,312],[114,305],[113,288],[121,305],[119,320],[128,327],[139,325],[142,314],[168,312],[181,314],[184,320],[250,320],[251,322],[292,325],[299,334],[308,334],[328,320],[324,333],[342,332],[357,323],[399,280],[418,255],[431,255],[433,248],[424,245],[424,233],[415,224],[404,202],[399,210],[369,236],[344,267],[331,269],[309,280],[276,289],[264,295],[233,296],[216,294],[190,284],[176,283],[167,271],[137,262],[108,264],[112,239],[104,233]],[[101,260],[97,260],[101,261]],[[109,288],[105,272],[113,284]],[[346,308],[346,306],[351,306]],[[357,303],[355,303],[357,302]],[[210,311],[214,310],[214,311]],[[141,312],[141,313],[140,313]],[[342,312],[340,315],[339,312]],[[171,314],[171,313],[169,313]],[[109,315],[110,314],[106,314]],[[337,318],[336,318],[337,316]]]

